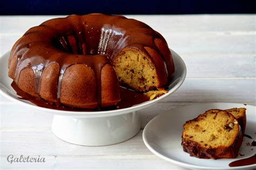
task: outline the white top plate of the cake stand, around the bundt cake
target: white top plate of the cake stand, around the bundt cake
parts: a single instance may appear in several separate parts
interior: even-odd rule
[[[18,95],[16,94],[16,91],[11,87],[12,79],[8,77],[8,58],[10,55],[10,52],[5,53],[3,56],[1,56],[1,63],[0,63],[0,92],[9,98],[12,101],[24,104],[28,107],[32,107],[39,110],[44,110],[47,112],[51,112],[55,115],[64,115],[64,116],[76,116],[76,117],[105,117],[105,116],[116,116],[116,115],[122,115],[126,114],[128,112],[133,112],[136,110],[140,110],[146,107],[149,107],[150,105],[159,102],[160,100],[163,100],[163,98],[171,95],[176,91],[181,84],[184,82],[186,77],[186,66],[184,61],[180,58],[180,56],[171,50],[173,61],[175,65],[175,73],[172,75],[172,81],[169,86],[168,93],[152,100],[147,101],[144,103],[140,103],[138,105],[134,105],[130,108],[125,109],[119,109],[119,110],[110,110],[110,111],[63,111],[63,110],[54,110],[54,109],[48,109],[43,107],[38,107],[37,105],[18,98]]]

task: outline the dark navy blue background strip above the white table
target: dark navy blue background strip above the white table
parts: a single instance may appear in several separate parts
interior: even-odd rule
[[[1,0],[0,15],[255,13],[252,0]]]

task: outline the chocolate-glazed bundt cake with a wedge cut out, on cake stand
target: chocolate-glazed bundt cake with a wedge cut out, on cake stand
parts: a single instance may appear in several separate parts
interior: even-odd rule
[[[116,105],[119,85],[158,90],[172,73],[165,39],[138,20],[114,15],[48,20],[25,32],[9,58],[9,76],[20,89],[72,108]]]

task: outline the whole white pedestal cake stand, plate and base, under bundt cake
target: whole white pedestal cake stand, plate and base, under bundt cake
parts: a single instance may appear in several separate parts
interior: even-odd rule
[[[136,112],[137,110],[149,107],[163,100],[163,98],[176,91],[184,82],[186,77],[185,63],[177,53],[171,52],[176,71],[173,74],[168,93],[155,100],[140,103],[130,108],[95,112],[62,111],[38,107],[29,101],[22,100],[18,98],[16,91],[12,89],[12,79],[8,77],[8,58],[10,52],[1,56],[1,94],[12,101],[23,104],[25,107],[32,107],[54,114],[52,132],[62,140],[85,146],[117,144],[132,138],[139,132],[141,123]]]

